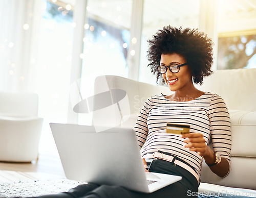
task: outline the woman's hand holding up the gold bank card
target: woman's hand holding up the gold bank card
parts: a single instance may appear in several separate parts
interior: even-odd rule
[[[201,133],[188,133],[182,134],[181,138],[185,138],[183,141],[186,143],[184,146],[189,148],[190,151],[197,152],[200,156],[204,156],[207,153],[207,145],[203,134]]]

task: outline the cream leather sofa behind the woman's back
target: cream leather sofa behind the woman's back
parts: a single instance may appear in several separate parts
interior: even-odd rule
[[[122,110],[120,101],[111,116],[102,115],[108,117],[108,121],[104,123],[101,119],[101,125],[133,128],[148,97],[161,92],[171,93],[165,86],[150,85],[117,76],[97,77],[95,93],[100,92],[105,82],[110,90],[126,91],[125,97],[129,100],[130,110]],[[232,133],[230,174],[221,179],[203,163],[199,193],[219,196],[236,193],[235,195],[256,197],[256,69],[217,70],[205,78],[203,86],[197,87],[203,91],[217,93],[224,99],[230,113]],[[93,120],[97,122],[96,117]]]

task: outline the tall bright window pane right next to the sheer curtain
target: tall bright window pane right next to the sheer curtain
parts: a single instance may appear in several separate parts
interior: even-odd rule
[[[50,122],[67,122],[73,42],[73,13],[65,7],[44,1],[35,90],[39,95],[38,116],[44,118],[39,152],[56,151]]]

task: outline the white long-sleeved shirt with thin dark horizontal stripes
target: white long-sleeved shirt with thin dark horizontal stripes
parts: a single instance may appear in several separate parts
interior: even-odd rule
[[[166,133],[166,123],[189,125],[190,133],[202,133],[206,144],[211,140],[214,151],[230,163],[230,117],[219,95],[206,92],[184,102],[154,95],[145,102],[134,128],[139,145],[144,145],[142,156],[157,151],[172,154],[194,167],[200,177],[202,156],[184,147],[180,135]]]

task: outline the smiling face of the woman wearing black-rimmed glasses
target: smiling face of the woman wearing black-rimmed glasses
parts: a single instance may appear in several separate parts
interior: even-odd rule
[[[176,53],[162,54],[160,60],[160,64],[165,66],[169,66],[170,64],[181,65],[186,62],[185,58]],[[165,73],[162,73],[162,77],[171,91],[189,88],[193,84],[188,65],[181,66],[177,73],[171,72],[168,68]]]

